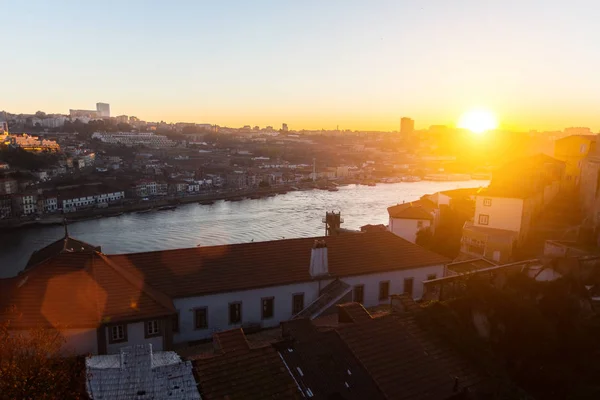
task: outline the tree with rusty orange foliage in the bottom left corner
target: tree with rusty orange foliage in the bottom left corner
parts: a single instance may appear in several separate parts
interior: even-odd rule
[[[64,337],[53,328],[21,332],[0,324],[0,398],[83,399],[85,365],[64,357]]]

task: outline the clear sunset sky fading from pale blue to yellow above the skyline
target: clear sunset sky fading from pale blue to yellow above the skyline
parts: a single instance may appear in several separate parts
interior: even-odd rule
[[[0,110],[221,126],[600,128],[600,3],[0,0]]]

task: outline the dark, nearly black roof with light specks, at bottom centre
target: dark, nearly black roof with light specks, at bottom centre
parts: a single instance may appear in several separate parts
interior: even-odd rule
[[[286,340],[274,346],[305,397],[384,399],[373,379],[335,331],[318,331],[308,319],[284,322],[282,331]]]

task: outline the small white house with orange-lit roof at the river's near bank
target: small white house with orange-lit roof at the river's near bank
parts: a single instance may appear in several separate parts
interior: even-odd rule
[[[427,199],[388,207],[388,229],[394,235],[415,243],[417,233],[422,229],[435,230],[439,219],[439,209]]]

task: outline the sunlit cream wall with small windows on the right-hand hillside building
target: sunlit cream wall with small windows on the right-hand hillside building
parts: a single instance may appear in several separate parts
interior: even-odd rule
[[[491,199],[492,205],[485,206],[484,199]],[[519,232],[521,230],[521,216],[523,213],[523,199],[506,197],[477,196],[475,199],[475,226],[487,228],[506,229]],[[479,224],[480,215],[489,215],[489,224]]]

